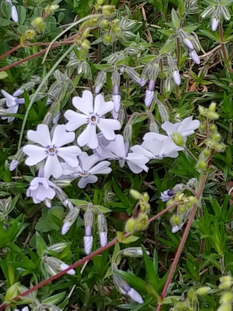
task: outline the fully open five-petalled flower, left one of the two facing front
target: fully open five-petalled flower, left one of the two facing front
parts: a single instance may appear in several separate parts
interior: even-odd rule
[[[75,139],[75,133],[66,132],[65,125],[56,126],[52,139],[46,124],[39,124],[36,131],[29,130],[27,137],[41,146],[26,145],[23,147],[23,152],[29,156],[25,163],[28,166],[33,166],[46,158],[45,177],[49,178],[52,175],[54,178],[59,178],[62,176],[63,168],[59,158],[62,158],[71,167],[78,166],[77,156],[81,154],[81,149],[78,146],[62,147],[72,143]]]

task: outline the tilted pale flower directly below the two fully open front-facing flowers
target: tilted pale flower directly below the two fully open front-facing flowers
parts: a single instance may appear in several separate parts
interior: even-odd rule
[[[62,163],[63,174],[74,179],[81,177],[78,187],[85,188],[87,184],[94,184],[98,181],[96,174],[109,174],[111,172],[112,169],[108,167],[111,163],[108,161],[100,162],[100,160],[95,154],[88,156],[86,152],[82,152],[79,156],[79,166],[70,167],[67,163]]]

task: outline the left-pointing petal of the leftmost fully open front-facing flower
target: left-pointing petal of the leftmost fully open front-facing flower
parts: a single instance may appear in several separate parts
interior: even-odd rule
[[[25,161],[28,166],[36,165],[47,157],[45,148],[36,145],[26,145],[22,148],[22,151],[28,155]]]

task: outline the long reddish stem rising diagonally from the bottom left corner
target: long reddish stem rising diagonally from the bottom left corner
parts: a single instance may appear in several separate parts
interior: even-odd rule
[[[168,207],[166,207],[164,210],[162,210],[161,212],[159,212],[158,214],[156,214],[155,216],[151,217],[148,220],[148,223],[151,223],[152,221],[158,219],[159,217],[161,217],[162,215],[164,215],[167,211],[169,211],[169,209],[175,207],[177,205],[177,202],[169,205]],[[124,238],[127,238],[128,236],[130,236],[129,233],[125,233],[124,234]],[[74,263],[73,265],[71,265],[69,268],[57,273],[54,276],[51,276],[50,278],[42,281],[41,283],[37,284],[36,286],[32,287],[29,290],[24,291],[23,293],[21,293],[20,296],[17,296],[15,298],[13,298],[13,300],[18,301],[22,296],[26,296],[28,294],[30,294],[31,292],[38,290],[40,288],[42,288],[43,286],[45,286],[48,283],[51,283],[52,281],[56,280],[57,278],[59,278],[60,276],[63,276],[67,271],[71,270],[71,269],[75,269],[81,265],[83,265],[86,261],[91,260],[93,257],[101,254],[103,251],[105,251],[106,249],[109,249],[110,247],[114,246],[116,243],[118,242],[118,238],[115,238],[114,240],[112,240],[111,242],[107,243],[106,246],[97,249],[95,251],[93,251],[93,253],[85,256],[83,259],[77,261],[76,263]],[[0,306],[0,310],[3,310],[4,308],[6,308],[7,306],[9,306],[9,304],[4,303]]]

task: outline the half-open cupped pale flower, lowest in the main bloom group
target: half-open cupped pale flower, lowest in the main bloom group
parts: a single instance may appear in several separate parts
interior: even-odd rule
[[[62,189],[57,187],[54,183],[48,180],[45,177],[35,177],[27,189],[26,195],[32,197],[32,200],[35,204],[41,203],[45,199],[52,200],[56,191],[61,192]],[[51,207],[51,206],[49,206]]]

